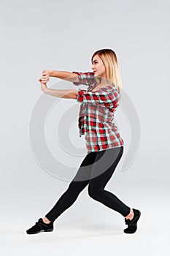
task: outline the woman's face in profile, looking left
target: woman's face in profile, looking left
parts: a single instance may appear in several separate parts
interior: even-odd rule
[[[106,78],[106,69],[104,67],[103,61],[101,61],[100,57],[97,54],[96,56],[93,56],[92,69],[94,72],[94,76]]]

